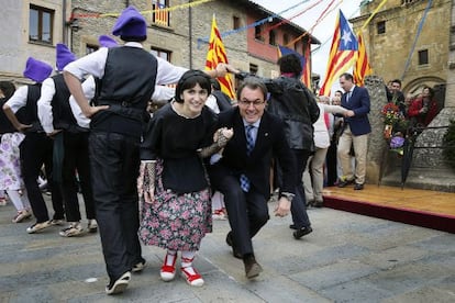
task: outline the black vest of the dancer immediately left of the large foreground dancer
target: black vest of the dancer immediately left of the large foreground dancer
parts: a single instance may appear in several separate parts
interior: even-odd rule
[[[65,130],[70,133],[87,132],[88,130],[77,124],[76,117],[73,115],[71,106],[69,105],[71,93],[65,83],[63,75],[56,75],[52,79],[55,85],[55,93],[51,101],[54,128]]]

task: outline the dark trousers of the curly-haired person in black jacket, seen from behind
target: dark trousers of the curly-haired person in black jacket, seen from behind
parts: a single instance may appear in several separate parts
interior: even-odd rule
[[[307,166],[308,158],[311,155],[310,150],[307,149],[291,149],[292,155],[295,157],[295,165],[296,165],[296,197],[292,199],[291,203],[291,215],[292,215],[292,222],[298,228],[308,227],[311,225],[310,218],[307,214],[307,202],[304,198],[304,190],[303,190],[303,181],[302,176],[304,168]],[[278,175],[278,183],[279,188],[281,187],[282,181],[282,171],[279,166],[279,161],[277,164],[277,175]]]

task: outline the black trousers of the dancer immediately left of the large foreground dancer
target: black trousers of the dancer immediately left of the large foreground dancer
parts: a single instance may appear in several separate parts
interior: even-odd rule
[[[87,218],[95,218],[93,192],[90,180],[88,154],[89,133],[63,132],[64,159],[62,169],[62,192],[65,201],[66,221],[80,221],[79,200],[77,198],[76,170],[79,175]]]

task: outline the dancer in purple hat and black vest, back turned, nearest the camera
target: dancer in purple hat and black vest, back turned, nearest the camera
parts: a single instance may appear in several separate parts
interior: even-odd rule
[[[134,8],[126,8],[112,34],[125,42],[101,47],[64,68],[65,81],[81,112],[91,117],[89,135],[93,201],[101,245],[110,278],[107,294],[123,292],[131,271],[145,266],[137,236],[140,143],[149,119],[147,103],[155,85],[176,83],[186,68],[156,58],[143,48],[147,22]],[[217,67],[211,77],[222,77],[230,67]],[[99,78],[93,106],[84,94],[80,80]],[[224,75],[223,75],[224,74]]]

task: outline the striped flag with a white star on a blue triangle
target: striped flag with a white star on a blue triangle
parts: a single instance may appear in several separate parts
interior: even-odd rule
[[[358,50],[357,38],[341,10],[335,24],[325,79],[319,91],[320,96],[330,96],[333,82],[352,67]]]

